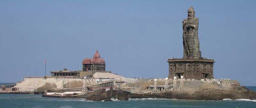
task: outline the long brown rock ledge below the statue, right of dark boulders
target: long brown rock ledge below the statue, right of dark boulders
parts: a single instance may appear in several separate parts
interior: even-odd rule
[[[223,99],[250,99],[256,98],[256,93],[245,87],[237,87],[235,89],[207,89],[207,90],[180,90],[169,91],[164,93],[145,93],[128,95],[128,98],[175,98],[175,99],[191,99],[191,100],[223,100]]]

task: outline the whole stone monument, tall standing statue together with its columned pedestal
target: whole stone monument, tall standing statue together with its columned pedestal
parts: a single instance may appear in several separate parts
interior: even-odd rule
[[[168,59],[169,78],[184,76],[185,79],[212,79],[213,59],[201,57],[198,38],[198,18],[193,7],[187,11],[188,18],[182,21],[183,28],[183,58]]]

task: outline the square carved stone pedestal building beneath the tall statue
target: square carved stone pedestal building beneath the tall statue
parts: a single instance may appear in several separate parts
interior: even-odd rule
[[[184,59],[168,59],[169,78],[174,75],[180,79],[212,79],[213,77],[213,59],[203,58],[184,58]]]

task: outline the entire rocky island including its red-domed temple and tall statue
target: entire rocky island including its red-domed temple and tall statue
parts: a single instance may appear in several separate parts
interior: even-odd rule
[[[169,76],[164,79],[125,78],[105,71],[105,60],[98,50],[82,61],[81,71],[67,68],[51,71],[51,76],[25,77],[21,82],[3,85],[0,93],[43,94],[42,97],[84,98],[92,101],[129,100],[129,98],[168,98],[190,100],[256,99],[236,80],[215,79],[210,58],[201,56],[198,24],[193,7],[182,21],[183,58],[168,59]]]

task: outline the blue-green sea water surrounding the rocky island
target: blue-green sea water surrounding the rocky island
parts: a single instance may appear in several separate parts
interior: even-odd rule
[[[1,85],[1,83],[0,83]],[[256,90],[255,86],[247,87]],[[93,102],[84,99],[47,98],[41,95],[0,94],[0,108],[256,108],[255,100],[130,99]]]

